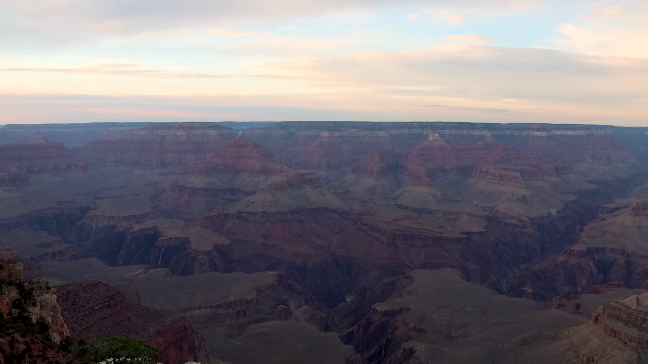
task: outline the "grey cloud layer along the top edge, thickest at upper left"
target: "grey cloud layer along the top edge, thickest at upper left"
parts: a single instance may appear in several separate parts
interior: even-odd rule
[[[264,25],[304,17],[426,6],[444,11],[509,12],[537,0],[7,0],[0,13],[0,40],[40,44],[91,40],[97,35],[133,36],[181,28],[213,28],[213,24]],[[452,23],[462,14],[439,15]]]

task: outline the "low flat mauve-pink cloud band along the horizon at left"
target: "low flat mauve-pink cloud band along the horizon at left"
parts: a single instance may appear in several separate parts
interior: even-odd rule
[[[299,106],[286,97],[156,95],[2,95],[0,124],[101,121],[398,120],[399,115],[345,107]],[[30,106],[25,108],[25,106]]]

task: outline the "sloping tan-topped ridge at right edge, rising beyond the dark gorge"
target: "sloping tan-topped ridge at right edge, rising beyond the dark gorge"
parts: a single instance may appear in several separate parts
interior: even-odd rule
[[[552,299],[613,282],[648,288],[648,216],[643,188],[602,209],[600,216],[584,227],[576,244],[561,255],[529,267],[516,283],[520,292],[531,298]]]

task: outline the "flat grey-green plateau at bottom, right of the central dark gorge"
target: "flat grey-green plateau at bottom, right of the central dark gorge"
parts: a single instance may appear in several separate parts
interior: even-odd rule
[[[512,364],[532,342],[550,345],[560,326],[584,321],[503,297],[449,269],[413,271],[384,284],[392,287],[388,299],[343,336],[369,363]]]

